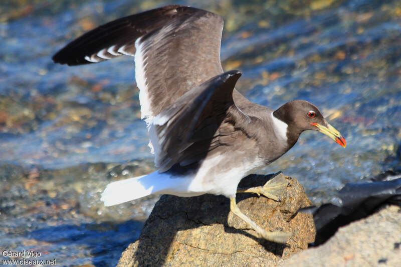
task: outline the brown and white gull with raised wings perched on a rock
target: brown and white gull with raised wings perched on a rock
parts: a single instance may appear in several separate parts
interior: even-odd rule
[[[150,194],[221,194],[258,237],[285,243],[291,233],[261,228],[236,203],[237,192],[279,200],[285,179],[246,189],[238,183],[287,152],[305,130],[346,142],[310,102],[292,100],[273,110],[235,89],[241,72],[225,72],[220,61],[223,24],[213,12],[168,5],[101,25],[53,60],[79,65],[134,56],[141,118],[158,170],[109,183],[101,198],[106,206]]]

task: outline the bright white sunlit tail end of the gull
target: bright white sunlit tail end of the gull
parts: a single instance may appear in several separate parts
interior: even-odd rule
[[[153,186],[145,187],[144,183],[141,183],[141,178],[144,176],[147,175],[110,182],[100,199],[105,206],[112,206],[151,194]]]

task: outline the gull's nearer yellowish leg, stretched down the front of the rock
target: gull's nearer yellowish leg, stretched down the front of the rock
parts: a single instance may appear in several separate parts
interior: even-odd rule
[[[262,229],[247,215],[241,212],[241,210],[237,206],[235,197],[230,198],[230,210],[234,214],[242,218],[246,223],[248,223],[256,231],[258,237],[262,237],[272,242],[285,244],[287,242],[287,239],[291,236],[290,232],[281,232],[281,231],[267,232],[265,229]]]

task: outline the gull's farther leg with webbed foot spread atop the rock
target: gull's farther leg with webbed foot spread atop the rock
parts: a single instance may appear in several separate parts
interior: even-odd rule
[[[237,193],[256,193],[258,195],[263,194],[267,198],[280,201],[280,194],[287,184],[288,182],[286,181],[284,174],[280,172],[268,180],[263,186],[238,188]]]

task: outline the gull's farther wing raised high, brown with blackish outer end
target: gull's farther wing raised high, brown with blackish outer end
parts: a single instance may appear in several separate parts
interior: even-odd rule
[[[223,19],[202,9],[169,5],[126,16],[73,40],[53,56],[61,64],[135,56],[141,116],[148,122],[175,99],[223,72]]]

